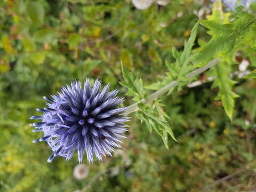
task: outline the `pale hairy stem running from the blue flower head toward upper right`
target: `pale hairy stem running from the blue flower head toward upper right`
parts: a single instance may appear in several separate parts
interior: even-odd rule
[[[217,59],[213,59],[212,61],[210,61],[207,65],[205,65],[204,67],[195,69],[194,71],[192,71],[191,73],[187,74],[186,77],[187,78],[192,78],[195,77],[201,73],[203,73],[204,71],[206,71],[207,69],[217,65],[218,60]],[[135,102],[132,105],[126,107],[126,110],[124,111],[124,115],[128,115],[134,111],[137,111],[138,108],[138,104],[139,103],[143,103],[143,104],[147,104],[159,97],[161,97],[164,93],[168,92],[170,89],[172,89],[173,87],[177,86],[178,82],[177,81],[172,81],[171,83],[169,83],[168,85],[164,86],[162,89],[152,93],[151,95],[149,95],[148,99],[142,99],[139,102]]]

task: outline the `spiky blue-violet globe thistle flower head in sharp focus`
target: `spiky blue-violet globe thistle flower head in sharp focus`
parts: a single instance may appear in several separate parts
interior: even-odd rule
[[[75,151],[81,163],[84,153],[87,161],[93,162],[93,155],[102,161],[102,156],[111,156],[114,147],[121,148],[121,138],[127,131],[124,116],[125,107],[117,108],[124,98],[116,97],[117,90],[108,92],[109,84],[100,91],[101,82],[97,79],[91,87],[86,79],[84,87],[73,82],[63,86],[52,99],[47,101],[44,109],[37,109],[42,116],[32,116],[30,119],[42,119],[41,122],[30,124],[34,132],[42,131],[44,137],[34,140],[47,141],[53,150],[48,162],[56,156],[66,157],[68,161]]]

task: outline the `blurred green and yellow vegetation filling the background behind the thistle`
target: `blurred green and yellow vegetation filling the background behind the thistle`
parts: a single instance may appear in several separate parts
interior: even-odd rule
[[[29,117],[50,95],[75,79],[99,78],[124,95],[121,62],[146,85],[161,80],[166,59],[183,44],[210,1],[171,0],[137,10],[130,0],[0,1],[0,191],[246,191],[256,189],[256,81],[235,85],[232,122],[211,83],[163,97],[179,143],[167,150],[161,137],[132,117],[122,149],[87,164],[78,180],[70,162],[46,159],[46,143],[32,143]],[[209,41],[200,26],[197,42]],[[195,45],[197,47],[198,44]],[[239,53],[256,67],[255,52]],[[238,70],[238,65],[234,65]],[[204,75],[200,77],[205,78]],[[132,101],[127,98],[126,105]]]

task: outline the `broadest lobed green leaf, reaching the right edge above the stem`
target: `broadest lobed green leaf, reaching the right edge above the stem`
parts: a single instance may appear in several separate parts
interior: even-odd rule
[[[196,66],[202,67],[215,58],[234,59],[235,52],[250,44],[256,36],[256,15],[238,11],[238,19],[233,23],[221,24],[202,20],[201,23],[211,30],[212,39],[193,57]]]

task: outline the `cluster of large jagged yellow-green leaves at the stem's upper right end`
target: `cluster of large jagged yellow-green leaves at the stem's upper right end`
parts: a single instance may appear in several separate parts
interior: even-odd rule
[[[235,82],[230,78],[231,65],[238,49],[245,45],[252,46],[252,35],[255,34],[256,25],[255,15],[242,10],[238,10],[236,21],[229,23],[229,17],[229,13],[223,12],[221,1],[216,1],[213,4],[212,15],[207,16],[208,20],[201,21],[210,29],[209,34],[212,38],[195,54],[193,61],[195,65],[203,66],[211,59],[219,59],[218,65],[212,69],[216,77],[212,88],[218,87],[219,93],[215,100],[221,100],[226,114],[232,119],[235,98],[238,95],[233,91]]]

